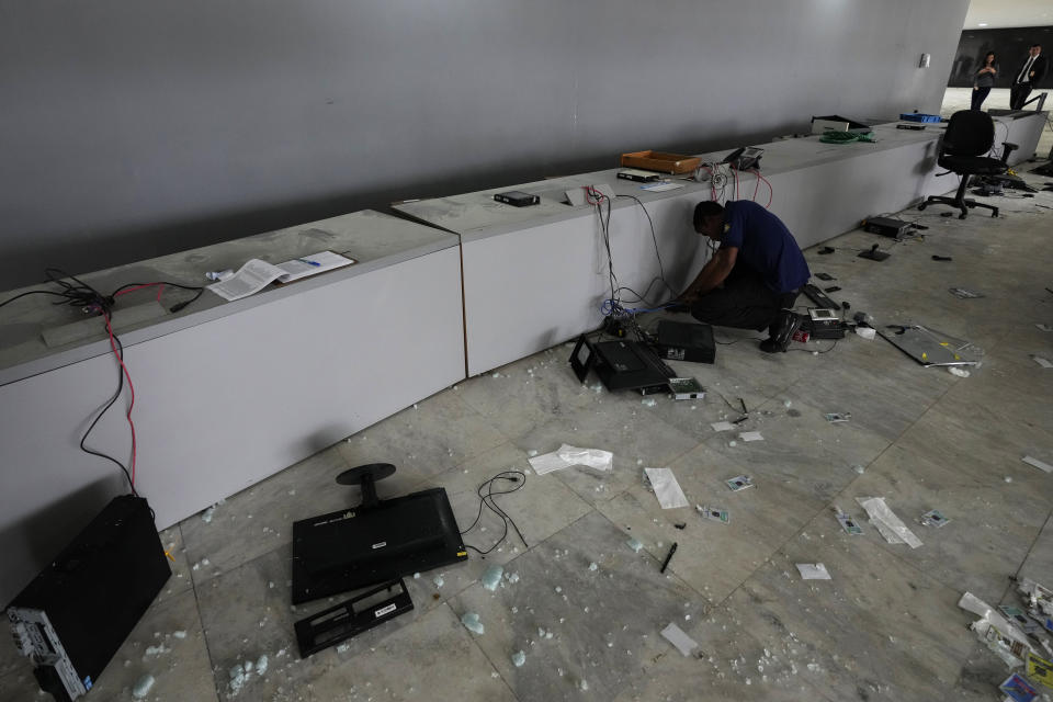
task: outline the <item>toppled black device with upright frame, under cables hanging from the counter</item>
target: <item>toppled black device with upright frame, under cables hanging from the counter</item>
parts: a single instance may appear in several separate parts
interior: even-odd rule
[[[676,373],[658,355],[638,341],[601,341],[592,343],[585,335],[570,354],[570,367],[580,382],[596,371],[609,390],[665,386]]]

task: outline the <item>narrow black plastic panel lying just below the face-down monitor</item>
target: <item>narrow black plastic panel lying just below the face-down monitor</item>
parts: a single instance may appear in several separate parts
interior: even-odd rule
[[[295,624],[299,657],[336,646],[414,609],[401,578],[384,582]]]

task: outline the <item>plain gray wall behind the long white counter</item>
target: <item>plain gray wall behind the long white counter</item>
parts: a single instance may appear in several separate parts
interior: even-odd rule
[[[967,4],[5,0],[0,290],[813,114],[937,112]]]

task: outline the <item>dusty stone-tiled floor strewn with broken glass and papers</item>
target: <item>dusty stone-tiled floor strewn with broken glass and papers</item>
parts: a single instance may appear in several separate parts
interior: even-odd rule
[[[814,273],[837,278],[826,284],[842,287],[835,298],[875,326],[919,322],[981,347],[970,377],[925,369],[880,338],[766,355],[752,335],[717,330],[734,344],[718,347],[715,364],[673,364],[709,388],[705,399],[654,396],[649,406],[591,377],[579,384],[569,348],[556,347],[163,532],[176,574],[87,699],[132,699],[145,675],[155,678],[149,700],[999,699],[1007,670],[956,602],[966,590],[1015,602],[1012,575],[1053,585],[1053,475],[1021,462],[1053,463],[1053,370],[1030,358],[1053,359],[1053,332],[1035,326],[1053,325],[1053,192],[1001,204],[998,219],[909,211],[929,227],[924,238],[857,230],[827,242],[831,254],[806,251]],[[857,258],[874,242],[892,258]],[[959,286],[985,296],[948,292]],[[738,398],[749,409],[738,431],[763,441],[711,428],[738,416]],[[827,422],[834,411],[850,421]],[[563,442],[612,451],[613,471],[531,474],[499,498],[529,546],[510,534],[485,561],[473,554],[409,579],[411,613],[298,658],[293,622],[328,602],[290,605],[291,523],[358,503],[356,489],[333,483],[338,473],[392,462],[399,472],[382,497],[442,486],[467,524],[480,483],[530,473],[532,452]],[[660,509],[643,466],[670,467],[692,506],[725,508],[731,523]],[[729,491],[724,480],[743,474],[757,487]],[[885,497],[922,545],[887,544],[856,502],[865,496]],[[835,506],[864,533],[841,531]],[[951,520],[942,529],[917,523],[933,508]],[[497,540],[501,522],[487,512],[483,524],[467,543]],[[833,579],[803,581],[795,564],[817,562]],[[506,576],[492,592],[479,582],[491,564]],[[466,612],[483,634],[461,624]],[[698,642],[697,656],[659,635],[669,623]],[[0,639],[0,698],[41,699],[26,661]]]

